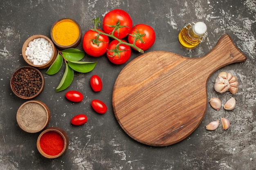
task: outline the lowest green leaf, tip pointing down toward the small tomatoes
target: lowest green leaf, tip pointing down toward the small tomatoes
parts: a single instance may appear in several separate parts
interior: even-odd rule
[[[60,84],[56,88],[56,92],[60,92],[65,90],[70,84],[72,83],[72,80],[74,78],[74,71],[68,64],[66,64],[65,72],[63,74],[63,77],[61,79]]]

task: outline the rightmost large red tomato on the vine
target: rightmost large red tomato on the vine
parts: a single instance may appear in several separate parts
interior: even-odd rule
[[[135,25],[128,35],[128,42],[133,44],[134,38],[138,37],[135,45],[141,50],[149,49],[155,42],[155,31],[151,26],[146,24]]]

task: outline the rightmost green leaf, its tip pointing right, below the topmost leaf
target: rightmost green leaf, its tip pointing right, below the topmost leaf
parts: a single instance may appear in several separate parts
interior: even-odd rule
[[[74,71],[88,73],[93,70],[97,62],[68,61],[68,64]]]

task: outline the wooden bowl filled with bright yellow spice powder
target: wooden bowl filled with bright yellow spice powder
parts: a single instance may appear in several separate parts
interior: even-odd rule
[[[67,23],[67,25],[64,25],[63,23]],[[61,29],[61,31],[59,31]],[[75,34],[74,29],[78,29],[79,33]],[[65,36],[61,37],[60,34],[63,34]],[[76,38],[76,40],[65,43],[64,40],[70,40],[72,37]],[[82,31],[80,25],[73,19],[70,18],[62,18],[60,20],[57,20],[54,22],[51,28],[51,38],[52,42],[59,48],[59,49],[70,49],[75,48],[78,46],[82,39]]]

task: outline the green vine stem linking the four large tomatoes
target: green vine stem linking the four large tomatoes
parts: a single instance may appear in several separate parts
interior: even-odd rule
[[[121,27],[124,27],[124,26],[120,26],[119,21],[117,22],[116,25],[112,26],[112,27],[114,27],[114,29],[113,29],[113,31],[112,31],[111,34],[103,33],[103,32],[101,32],[101,31],[97,30],[98,24],[100,24],[99,17],[93,19],[92,23],[94,23],[94,29],[91,29],[91,30],[97,32],[98,35],[99,35],[99,34],[106,35],[106,36],[108,36],[108,37],[110,37],[110,38],[113,38],[113,39],[117,40],[117,41],[119,42],[118,46],[119,46],[120,44],[125,44],[125,45],[128,45],[128,46],[130,46],[130,47],[136,49],[136,50],[139,51],[140,53],[144,53],[143,50],[141,50],[139,47],[137,47],[137,46],[135,45],[135,42],[138,40],[137,38],[134,38],[133,44],[130,44],[130,43],[124,42],[124,41],[122,41],[122,40],[120,40],[119,38],[117,38],[117,37],[114,36],[114,32],[115,32],[116,30],[118,30],[118,29],[121,28]]]

